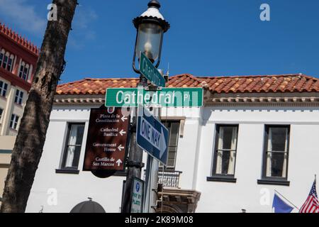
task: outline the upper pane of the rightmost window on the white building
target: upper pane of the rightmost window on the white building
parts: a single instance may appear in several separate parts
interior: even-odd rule
[[[288,128],[269,128],[269,150],[286,151]]]

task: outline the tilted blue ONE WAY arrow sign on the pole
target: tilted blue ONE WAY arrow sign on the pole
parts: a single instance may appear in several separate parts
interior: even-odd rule
[[[169,132],[149,111],[144,109],[138,116],[138,131],[136,140],[140,148],[167,165]]]

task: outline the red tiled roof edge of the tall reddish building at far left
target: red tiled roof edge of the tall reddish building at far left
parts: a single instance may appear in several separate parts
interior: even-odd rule
[[[17,43],[18,45],[21,45],[23,48],[26,48],[34,55],[39,55],[40,49],[36,45],[30,43],[28,40],[26,40],[26,38],[23,38],[21,35],[18,35],[14,31],[12,31],[11,28],[8,28],[3,23],[0,23],[0,33],[10,38],[11,40],[13,40],[13,42]]]

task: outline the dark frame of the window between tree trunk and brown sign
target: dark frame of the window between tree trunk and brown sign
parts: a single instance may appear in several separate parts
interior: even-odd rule
[[[83,137],[82,137],[82,143],[81,145],[72,145],[74,147],[80,147],[80,153],[79,153],[79,160],[77,161],[77,167],[65,167],[65,163],[67,162],[67,150],[69,148],[69,135],[71,133],[71,128],[74,125],[78,125],[78,126],[83,126]],[[67,123],[67,133],[66,133],[66,137],[65,137],[65,145],[64,148],[62,149],[62,160],[60,162],[60,170],[63,171],[62,173],[79,173],[79,161],[80,161],[80,156],[81,156],[81,150],[82,150],[82,146],[83,146],[83,142],[84,142],[84,133],[85,133],[85,126],[86,123],[85,122],[68,122]],[[60,171],[59,170],[59,171]],[[70,172],[65,172],[65,171],[70,171]],[[75,171],[75,172],[74,172]],[[61,173],[61,172],[57,172],[57,173]]]

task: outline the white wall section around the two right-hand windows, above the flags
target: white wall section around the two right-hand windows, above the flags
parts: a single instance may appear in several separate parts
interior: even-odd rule
[[[200,167],[196,189],[201,192],[197,212],[272,212],[274,189],[301,207],[306,201],[315,173],[319,173],[319,111],[317,108],[206,108],[208,122],[202,127]],[[211,114],[210,114],[211,113]],[[204,119],[205,121],[206,119]],[[216,123],[238,123],[236,183],[208,182],[213,162],[213,138]],[[290,186],[257,184],[262,176],[264,124],[290,124]],[[269,196],[268,205],[261,199]],[[262,200],[264,201],[264,200]],[[295,209],[296,211],[296,209]]]

